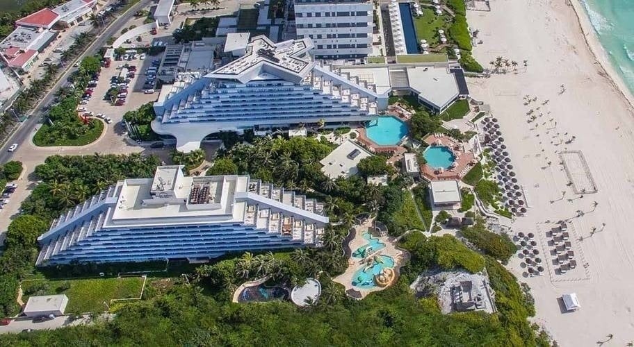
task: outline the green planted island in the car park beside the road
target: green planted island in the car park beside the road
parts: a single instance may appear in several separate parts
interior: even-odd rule
[[[69,127],[42,124],[38,133],[33,136],[33,144],[48,146],[85,146],[95,142],[104,133],[104,122],[90,119],[88,124],[65,124]]]

